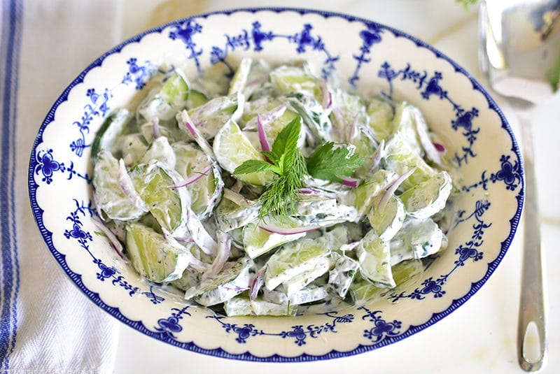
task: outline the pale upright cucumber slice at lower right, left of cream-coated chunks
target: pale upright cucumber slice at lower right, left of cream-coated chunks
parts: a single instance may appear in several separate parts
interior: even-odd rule
[[[356,247],[356,254],[363,278],[376,287],[395,287],[395,280],[391,273],[389,244],[381,240],[373,230],[367,231]]]

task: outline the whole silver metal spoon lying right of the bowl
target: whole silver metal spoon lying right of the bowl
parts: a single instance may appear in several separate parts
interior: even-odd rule
[[[560,64],[560,0],[486,0],[479,9],[479,64],[491,87],[519,115],[524,145],[525,201],[517,358],[525,371],[547,361],[547,293],[540,246],[533,166],[531,112],[552,94],[546,74]],[[528,357],[526,335],[535,324],[539,356]]]

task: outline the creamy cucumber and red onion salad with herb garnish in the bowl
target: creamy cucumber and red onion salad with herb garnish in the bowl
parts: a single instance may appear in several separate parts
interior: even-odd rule
[[[410,103],[242,59],[230,76],[173,69],[133,106],[92,143],[99,226],[189,301],[228,316],[359,305],[447,247],[456,189]]]

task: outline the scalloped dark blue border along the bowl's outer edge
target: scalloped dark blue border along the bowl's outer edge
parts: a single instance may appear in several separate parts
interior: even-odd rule
[[[148,34],[153,34],[155,32],[161,32],[163,29],[165,29],[167,27],[170,27],[174,24],[179,24],[181,22],[187,22],[188,20],[195,20],[197,18],[206,19],[206,18],[211,17],[213,15],[232,15],[234,13],[253,13],[253,14],[255,14],[255,13],[266,12],[266,11],[272,11],[272,12],[275,12],[275,13],[295,12],[295,13],[299,13],[300,15],[305,15],[305,14],[321,15],[325,19],[328,19],[330,17],[339,17],[339,18],[342,18],[342,19],[344,19],[348,22],[363,22],[365,24],[374,24],[377,27],[379,27],[380,29],[386,29],[388,31],[391,31],[397,37],[404,37],[404,38],[409,39],[410,41],[414,42],[416,44],[416,46],[419,47],[419,48],[425,48],[425,49],[429,50],[430,52],[433,52],[435,57],[440,58],[440,59],[444,59],[446,62],[451,64],[451,66],[453,66],[453,68],[455,69],[456,72],[461,73],[466,78],[468,78],[468,80],[470,80],[470,82],[472,84],[472,89],[478,90],[479,92],[481,92],[485,96],[486,100],[489,103],[489,108],[488,109],[493,110],[500,117],[502,128],[507,131],[507,134],[509,134],[509,136],[511,138],[511,141],[512,141],[511,151],[514,152],[514,154],[516,154],[516,156],[520,160],[519,168],[520,168],[520,173],[521,173],[521,182],[520,182],[521,187],[519,189],[519,194],[517,195],[517,209],[515,211],[514,216],[510,219],[510,233],[507,236],[507,238],[505,238],[505,240],[503,240],[503,242],[501,243],[500,250],[499,250],[499,253],[498,253],[498,256],[496,257],[496,259],[494,259],[493,261],[491,261],[488,264],[488,269],[487,269],[486,273],[484,274],[484,276],[480,280],[477,280],[477,282],[471,282],[470,289],[468,290],[468,292],[466,294],[464,294],[461,298],[454,299],[453,301],[451,301],[451,304],[449,305],[449,308],[443,310],[442,312],[434,312],[432,314],[432,316],[430,317],[430,319],[428,319],[423,324],[410,326],[409,329],[407,331],[405,331],[404,333],[401,333],[401,334],[399,334],[398,336],[395,336],[395,337],[387,337],[386,339],[384,339],[379,344],[357,345],[356,348],[354,348],[353,350],[349,350],[349,351],[339,351],[339,350],[332,349],[332,350],[330,350],[330,352],[328,352],[326,354],[321,354],[321,355],[313,355],[313,354],[302,353],[299,356],[294,356],[294,357],[285,357],[285,356],[282,356],[281,354],[272,354],[270,356],[260,357],[260,356],[256,356],[255,354],[251,354],[251,352],[248,352],[248,351],[246,351],[244,353],[241,353],[241,354],[235,354],[235,353],[226,352],[225,350],[223,350],[222,347],[218,347],[216,349],[206,349],[206,348],[199,347],[194,342],[182,343],[182,342],[179,342],[177,340],[170,339],[170,338],[162,339],[161,335],[159,335],[157,333],[154,333],[150,329],[146,328],[146,326],[144,325],[143,322],[129,319],[122,312],[120,312],[120,309],[118,307],[111,307],[110,305],[107,305],[106,303],[104,303],[104,301],[102,301],[99,294],[90,291],[90,289],[88,289],[84,285],[83,281],[81,280],[81,275],[78,274],[78,273],[75,273],[74,271],[72,271],[69,268],[68,264],[66,263],[66,259],[65,259],[64,254],[59,252],[57,250],[57,248],[52,244],[52,238],[51,238],[52,233],[50,233],[50,231],[48,231],[45,228],[45,225],[43,224],[43,215],[42,215],[43,210],[41,209],[40,206],[38,206],[37,199],[36,199],[36,192],[37,192],[37,189],[38,189],[39,185],[35,182],[35,178],[34,178],[34,172],[35,172],[34,171],[34,164],[36,162],[36,160],[35,160],[36,148],[38,147],[38,145],[43,143],[43,132],[44,132],[45,128],[48,126],[48,124],[50,124],[50,122],[53,122],[55,120],[55,113],[56,113],[59,105],[68,100],[68,96],[69,96],[69,93],[71,92],[71,90],[74,87],[76,87],[76,85],[79,85],[80,83],[83,82],[87,73],[89,73],[92,69],[94,69],[98,66],[101,66],[102,62],[104,62],[104,60],[107,57],[109,57],[109,56],[111,56],[115,53],[120,52],[120,50],[125,48],[126,45],[129,45],[129,44],[132,44],[132,43],[138,43],[139,41],[141,41],[142,38],[144,38],[144,36],[146,36]],[[386,345],[391,345],[391,344],[396,343],[396,342],[398,342],[398,341],[400,341],[404,338],[412,336],[415,333],[417,333],[419,331],[422,331],[423,329],[426,329],[428,326],[431,326],[431,325],[435,324],[436,322],[440,321],[441,319],[443,319],[444,317],[447,317],[447,315],[451,314],[451,312],[454,312],[454,310],[456,310],[459,306],[463,305],[463,303],[465,303],[465,301],[470,299],[470,297],[473,296],[480,289],[480,287],[482,287],[482,285],[484,285],[484,283],[489,279],[490,275],[492,275],[493,272],[496,270],[498,264],[503,259],[503,257],[505,256],[505,253],[507,252],[508,248],[510,247],[510,245],[512,243],[512,240],[514,238],[514,235],[517,231],[517,227],[519,225],[519,220],[520,220],[520,217],[521,217],[521,210],[522,210],[523,205],[524,205],[525,181],[524,181],[524,164],[523,164],[523,159],[521,157],[521,152],[519,150],[519,145],[517,143],[517,140],[514,136],[514,133],[511,129],[509,123],[507,122],[507,119],[505,118],[505,115],[503,115],[502,111],[498,107],[497,103],[494,101],[493,97],[489,94],[489,92],[487,92],[486,89],[484,89],[484,87],[470,73],[468,73],[468,71],[466,71],[465,69],[463,69],[462,66],[460,66],[456,62],[454,62],[454,60],[447,57],[447,55],[440,52],[440,50],[437,50],[432,45],[430,45],[430,44],[428,44],[424,41],[421,41],[419,38],[416,38],[416,37],[414,37],[410,34],[407,34],[404,31],[400,31],[400,29],[395,29],[394,27],[388,26],[388,25],[380,23],[380,22],[376,22],[374,20],[367,19],[365,17],[358,17],[358,16],[349,15],[349,14],[346,14],[346,13],[339,13],[339,12],[330,11],[330,10],[318,10],[318,9],[314,9],[314,8],[297,8],[297,7],[293,8],[293,7],[282,7],[282,6],[278,6],[278,7],[276,7],[276,6],[263,6],[263,7],[227,8],[227,9],[224,9],[224,10],[214,10],[214,11],[209,11],[209,12],[206,12],[206,13],[191,15],[191,16],[188,16],[188,17],[181,17],[181,18],[178,18],[176,20],[166,22],[165,24],[160,24],[157,27],[147,29],[146,31],[143,31],[140,34],[137,34],[135,36],[132,36],[131,38],[127,38],[125,41],[119,43],[118,45],[111,48],[110,50],[107,50],[101,56],[99,56],[97,59],[95,59],[94,62],[92,62],[85,69],[83,69],[83,71],[81,71],[78,74],[78,76],[76,78],[74,78],[72,80],[72,82],[62,91],[62,93],[58,96],[55,103],[52,105],[52,107],[48,111],[48,113],[45,116],[43,122],[41,123],[41,127],[38,129],[38,133],[36,135],[33,146],[31,148],[31,156],[30,156],[30,159],[29,159],[29,169],[28,169],[28,192],[29,192],[29,202],[31,204],[31,210],[32,210],[32,213],[34,215],[34,219],[36,221],[38,229],[41,233],[41,236],[43,237],[43,240],[45,241],[45,243],[48,247],[48,250],[51,252],[52,256],[55,257],[55,259],[57,261],[57,264],[60,266],[60,268],[62,268],[62,271],[64,271],[64,273],[66,273],[66,275],[69,276],[69,278],[76,285],[76,287],[78,287],[78,289],[80,289],[80,291],[83,292],[83,294],[85,294],[85,296],[87,296],[87,299],[90,299],[90,301],[95,303],[99,308],[101,308],[105,312],[109,313],[109,315],[118,319],[119,322],[122,322],[123,324],[125,324],[127,326],[130,326],[132,329],[135,329],[135,330],[139,331],[140,333],[143,333],[146,336],[151,336],[152,338],[155,338],[156,340],[160,340],[164,343],[174,345],[176,347],[181,347],[181,348],[183,348],[185,350],[188,350],[188,351],[191,351],[191,352],[207,354],[207,355],[213,356],[213,357],[221,357],[221,358],[227,358],[227,359],[237,359],[237,360],[241,360],[241,361],[302,362],[302,361],[318,361],[318,360],[325,360],[325,359],[335,359],[335,358],[340,358],[340,357],[351,357],[355,354],[360,354],[360,353],[363,353],[363,352],[370,352],[372,350],[377,350],[379,347],[384,347]]]

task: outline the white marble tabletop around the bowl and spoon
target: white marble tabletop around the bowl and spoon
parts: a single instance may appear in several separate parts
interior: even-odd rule
[[[365,17],[412,34],[454,59],[481,80],[477,69],[477,9],[454,0],[126,0],[121,39],[176,18],[246,6],[321,8]],[[482,81],[482,80],[481,80]],[[484,82],[482,82],[484,84]],[[497,99],[516,134],[511,108]],[[542,242],[549,282],[549,362],[543,373],[560,373],[560,199],[555,139],[560,138],[560,96],[535,114],[536,168],[542,215]],[[520,143],[522,143],[520,141]],[[120,328],[116,374],[127,373],[521,373],[516,357],[517,304],[522,232],[490,280],[465,305],[429,329],[373,352],[300,364],[260,364],[217,359],[181,350]]]

